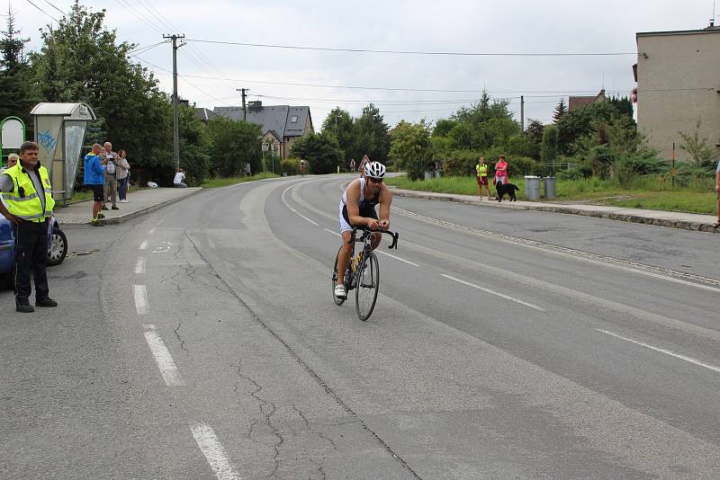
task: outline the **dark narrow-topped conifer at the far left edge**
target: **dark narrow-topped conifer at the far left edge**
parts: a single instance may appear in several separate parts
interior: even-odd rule
[[[29,65],[23,58],[24,45],[28,39],[19,38],[15,18],[8,8],[6,30],[0,39],[0,120],[14,115],[23,119],[27,138],[32,138],[30,111],[40,102],[40,94],[29,78]]]

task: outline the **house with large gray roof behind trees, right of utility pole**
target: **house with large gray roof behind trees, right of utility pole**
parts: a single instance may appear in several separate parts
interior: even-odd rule
[[[281,158],[290,156],[297,138],[314,131],[310,107],[263,106],[263,102],[258,101],[248,102],[245,112],[242,107],[215,107],[213,111],[232,120],[247,120],[262,125],[263,142],[270,144],[275,155]]]

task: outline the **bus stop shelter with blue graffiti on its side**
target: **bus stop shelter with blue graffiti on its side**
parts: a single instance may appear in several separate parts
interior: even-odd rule
[[[95,120],[86,103],[38,103],[30,112],[35,125],[35,141],[40,146],[40,163],[45,165],[52,182],[55,200],[73,195],[80,149],[85,140],[87,122]]]

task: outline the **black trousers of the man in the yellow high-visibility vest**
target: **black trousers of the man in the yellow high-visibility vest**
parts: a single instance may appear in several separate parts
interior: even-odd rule
[[[21,221],[13,225],[15,235],[15,303],[30,303],[30,272],[35,280],[35,299],[49,297],[48,274],[48,220]]]

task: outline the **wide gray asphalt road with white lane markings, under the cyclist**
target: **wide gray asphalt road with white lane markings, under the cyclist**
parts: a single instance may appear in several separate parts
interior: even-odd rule
[[[67,228],[60,307],[0,292],[0,477],[720,476],[716,236],[398,198],[361,322],[350,178]]]

